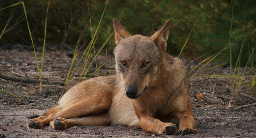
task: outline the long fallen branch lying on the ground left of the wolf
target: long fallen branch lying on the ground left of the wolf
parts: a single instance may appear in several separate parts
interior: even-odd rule
[[[26,82],[26,83],[40,83],[39,79],[30,79],[30,78],[22,78],[22,77],[13,77],[9,75],[4,75],[0,72],[0,78],[6,79],[6,80],[13,80],[17,82]],[[64,85],[64,81],[49,81],[49,80],[41,80],[42,84],[51,83],[55,85]]]

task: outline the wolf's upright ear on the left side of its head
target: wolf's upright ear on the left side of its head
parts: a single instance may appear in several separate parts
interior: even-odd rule
[[[118,44],[121,39],[131,36],[116,18],[113,19],[113,26],[115,31],[116,44]]]

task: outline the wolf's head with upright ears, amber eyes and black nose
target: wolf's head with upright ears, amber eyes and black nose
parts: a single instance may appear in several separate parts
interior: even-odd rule
[[[121,23],[113,20],[117,46],[114,49],[117,75],[124,94],[135,99],[156,84],[160,61],[166,50],[170,21],[151,37],[131,36]]]

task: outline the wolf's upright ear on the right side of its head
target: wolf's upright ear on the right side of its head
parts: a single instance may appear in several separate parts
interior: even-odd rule
[[[151,36],[161,53],[164,53],[166,50],[166,40],[168,39],[169,31],[170,20],[167,20],[164,26]]]

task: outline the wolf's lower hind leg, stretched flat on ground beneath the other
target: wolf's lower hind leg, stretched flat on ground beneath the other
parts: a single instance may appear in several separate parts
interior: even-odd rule
[[[107,113],[70,119],[58,117],[51,121],[49,124],[56,130],[66,130],[67,127],[73,126],[105,126],[110,124],[110,117]]]

